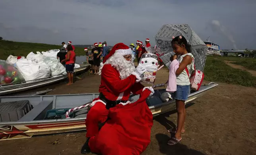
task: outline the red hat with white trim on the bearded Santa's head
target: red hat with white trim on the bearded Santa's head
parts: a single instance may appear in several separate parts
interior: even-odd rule
[[[117,43],[113,46],[109,54],[104,58],[103,64],[106,62],[107,59],[109,59],[114,53],[118,53],[121,56],[124,55],[132,55],[132,49],[128,47],[127,45],[124,45],[124,43]]]

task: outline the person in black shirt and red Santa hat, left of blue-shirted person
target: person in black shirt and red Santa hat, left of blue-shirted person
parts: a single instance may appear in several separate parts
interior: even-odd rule
[[[102,52],[98,45],[98,43],[94,43],[94,48],[91,50],[91,52],[93,53],[94,74],[97,74],[99,72],[99,65],[101,63]]]

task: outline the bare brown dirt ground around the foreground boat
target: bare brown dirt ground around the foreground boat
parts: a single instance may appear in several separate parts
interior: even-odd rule
[[[157,73],[156,84],[167,80],[168,71]],[[47,86],[48,94],[96,93],[100,76],[82,77],[73,85]],[[208,83],[209,81],[205,81]],[[186,109],[187,117],[180,144],[167,146],[167,129],[176,124],[176,113],[154,119],[151,143],[142,155],[255,155],[256,89],[219,83]],[[134,129],[136,130],[136,129]],[[52,144],[58,140],[57,144]],[[33,137],[0,142],[0,155],[80,155],[85,132]]]

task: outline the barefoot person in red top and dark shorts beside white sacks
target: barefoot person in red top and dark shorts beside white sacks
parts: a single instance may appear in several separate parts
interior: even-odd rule
[[[66,61],[66,72],[68,74],[68,84],[71,85],[73,83],[73,72],[76,63],[76,53],[73,51],[72,45],[68,45],[67,47],[68,53],[66,54],[66,59],[62,60]]]

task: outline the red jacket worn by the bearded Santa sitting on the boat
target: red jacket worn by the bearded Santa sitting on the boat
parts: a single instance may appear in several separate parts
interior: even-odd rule
[[[111,101],[128,100],[131,92],[136,95],[142,93],[144,86],[136,83],[134,75],[126,79],[120,79],[119,76],[119,72],[111,64],[105,64],[101,71],[99,93],[103,93],[105,98]]]

